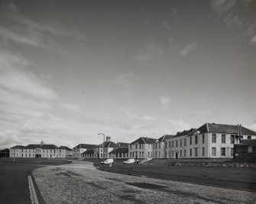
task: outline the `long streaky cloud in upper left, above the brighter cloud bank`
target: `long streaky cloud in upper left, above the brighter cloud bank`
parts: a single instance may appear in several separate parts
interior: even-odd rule
[[[53,49],[64,53],[63,42],[84,41],[86,36],[73,27],[62,27],[60,24],[44,21],[33,21],[18,11],[14,4],[2,9],[2,18],[8,24],[0,24],[0,37],[6,42],[21,43],[37,48]],[[0,12],[1,12],[0,11]],[[60,40],[62,43],[60,43]]]

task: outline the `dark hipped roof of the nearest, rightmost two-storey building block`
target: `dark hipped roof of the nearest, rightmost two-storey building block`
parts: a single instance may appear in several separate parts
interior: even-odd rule
[[[197,131],[201,134],[206,132],[238,134],[238,126],[206,123],[195,130],[195,132]],[[247,129],[244,126],[241,126],[241,135],[256,135],[256,132],[252,131],[251,129]]]

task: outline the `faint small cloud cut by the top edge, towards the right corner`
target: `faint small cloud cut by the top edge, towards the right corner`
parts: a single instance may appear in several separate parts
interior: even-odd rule
[[[219,14],[225,13],[229,9],[233,8],[236,4],[236,0],[212,0],[210,5],[214,11]]]

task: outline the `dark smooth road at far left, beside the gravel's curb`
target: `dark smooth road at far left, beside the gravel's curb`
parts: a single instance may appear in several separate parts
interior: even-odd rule
[[[47,161],[44,159],[16,159],[14,163],[10,159],[0,159],[0,203],[31,203],[28,175],[31,175],[31,172],[38,167],[65,163],[63,161]],[[34,181],[33,177],[32,180]],[[39,202],[44,203],[44,199],[35,182],[34,187]]]

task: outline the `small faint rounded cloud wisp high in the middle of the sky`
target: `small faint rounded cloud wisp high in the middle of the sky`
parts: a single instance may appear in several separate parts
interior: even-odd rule
[[[164,51],[160,46],[149,44],[143,49],[140,49],[137,55],[138,62],[147,63],[161,59]]]

